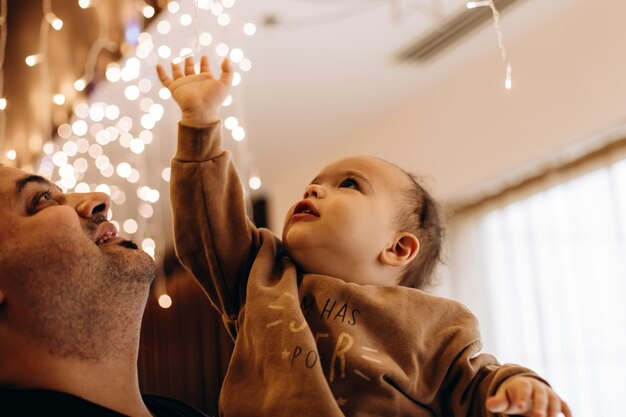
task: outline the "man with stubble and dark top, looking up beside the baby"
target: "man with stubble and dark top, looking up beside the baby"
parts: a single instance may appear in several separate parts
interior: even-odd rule
[[[0,165],[0,414],[202,416],[142,396],[153,260],[117,236],[103,193]]]

